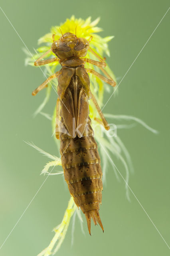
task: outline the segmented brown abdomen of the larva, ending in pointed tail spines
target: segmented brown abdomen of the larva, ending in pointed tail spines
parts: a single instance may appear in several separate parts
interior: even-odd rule
[[[91,217],[95,225],[98,222],[103,229],[99,216],[103,190],[102,171],[90,118],[81,138],[71,138],[61,132],[60,140],[61,162],[69,192],[86,216],[89,233]]]

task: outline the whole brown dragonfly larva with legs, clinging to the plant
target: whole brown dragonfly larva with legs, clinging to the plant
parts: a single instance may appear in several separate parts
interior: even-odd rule
[[[83,58],[87,50],[90,50],[100,61]],[[41,60],[50,51],[57,57]],[[61,64],[61,70],[45,80],[32,92],[32,95],[36,95],[45,88],[50,80],[58,79],[56,138],[61,140],[60,153],[64,177],[75,204],[86,216],[89,233],[91,232],[91,217],[95,225],[98,222],[103,230],[99,216],[99,203],[101,203],[101,191],[103,190],[102,171],[97,143],[89,118],[89,99],[92,99],[97,108],[101,118],[98,121],[106,130],[109,130],[109,124],[95,97],[91,94],[88,73],[98,76],[111,86],[115,86],[116,83],[104,70],[105,59],[101,59],[89,48],[89,41],[85,38],[77,38],[75,34],[65,33],[57,41],[54,40],[53,35],[51,49],[34,64],[40,66],[56,61]],[[107,78],[95,70],[85,68],[86,62],[98,66]]]

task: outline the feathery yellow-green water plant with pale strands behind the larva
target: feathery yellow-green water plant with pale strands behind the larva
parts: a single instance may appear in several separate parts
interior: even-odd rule
[[[97,18],[96,20],[91,22],[91,17],[87,18],[86,20],[83,20],[81,18],[77,19],[77,18],[75,18],[75,16],[71,16],[70,19],[67,19],[63,24],[60,24],[60,26],[53,26],[48,34],[45,34],[45,36],[42,36],[38,40],[38,44],[44,44],[44,45],[39,47],[38,49],[36,49],[35,54],[30,56],[30,53],[26,51],[26,53],[28,54],[28,58],[26,58],[26,64],[34,66],[34,61],[36,59],[38,59],[44,52],[47,52],[47,50],[49,50],[51,48],[51,44],[53,42],[53,40],[52,40],[53,34],[55,34],[55,39],[57,40],[61,36],[61,31],[63,34],[66,32],[75,33],[75,28],[76,28],[77,37],[83,37],[83,38],[86,38],[87,40],[89,40],[89,38],[91,36],[93,36],[93,38],[90,42],[90,47],[93,49],[94,52],[96,52],[99,56],[101,56],[101,58],[103,58],[104,54],[109,56],[110,54],[109,54],[108,42],[113,38],[113,36],[107,36],[105,38],[102,38],[101,36],[99,36],[97,34],[98,32],[102,31],[101,28],[96,26],[98,24],[99,20],[100,19]],[[60,29],[61,29],[61,31],[60,31]],[[53,53],[50,52],[47,55],[47,58],[49,58],[51,55],[53,55]],[[91,58],[91,59],[96,59],[95,56],[91,52],[88,52],[86,57]],[[85,65],[87,68],[92,68],[92,69],[95,68],[95,70],[97,72],[101,72],[101,70],[96,66],[94,67],[88,63],[86,63]],[[60,65],[58,64],[58,62],[52,63],[52,64],[47,64],[47,65],[45,65],[43,72],[45,75],[47,74],[47,76],[49,76],[49,75],[53,74],[54,72],[56,72],[57,68],[59,69],[59,66]],[[106,67],[106,70],[109,73],[109,75],[114,80],[116,80],[113,72],[111,71],[111,69],[109,68],[108,65]],[[99,106],[102,107],[104,91],[106,90],[107,92],[110,92],[113,89],[111,88],[111,86],[108,86],[103,81],[101,81],[99,78],[92,76],[91,74],[89,74],[89,76],[90,76],[90,81],[91,81],[91,91],[95,95],[95,98],[97,99]],[[54,131],[55,130],[55,110],[53,111],[52,116],[50,116],[47,113],[42,112],[42,109],[44,108],[45,104],[49,100],[50,94],[51,94],[51,92],[53,92],[53,89],[57,90],[57,79],[53,80],[52,89],[51,89],[51,85],[50,84],[48,85],[48,87],[46,89],[45,99],[43,100],[43,102],[39,106],[39,108],[36,110],[34,115],[36,116],[37,114],[40,113],[43,116],[45,116],[46,118],[48,118],[49,120],[51,120],[53,131]],[[129,178],[129,170],[132,170],[132,163],[131,163],[128,151],[117,134],[113,134],[113,136],[109,136],[109,138],[108,138],[109,131],[106,131],[101,125],[99,125],[99,124],[97,125],[95,118],[99,118],[99,116],[98,116],[98,113],[97,113],[93,103],[91,102],[91,100],[89,101],[89,112],[90,112],[89,115],[90,115],[90,118],[92,121],[92,127],[93,128],[95,127],[95,138],[98,142],[100,142],[102,144],[102,147],[99,147],[99,150],[100,150],[101,159],[102,159],[103,182],[105,182],[105,178],[106,178],[105,174],[106,174],[108,162],[111,163],[116,177],[119,178],[119,175],[117,173],[115,165],[111,161],[111,158],[114,159],[114,157],[117,157],[123,163],[123,165],[125,167],[126,195],[127,195],[128,200],[130,200],[127,184],[128,184],[128,178]],[[148,130],[156,133],[156,130],[150,128],[143,121],[141,121],[140,119],[135,118],[133,116],[113,115],[112,113],[110,113],[110,114],[105,114],[105,117],[111,118],[112,122],[115,122],[115,120],[120,120],[120,119],[134,120],[134,121],[142,124]],[[121,128],[126,128],[126,126],[127,125],[122,125]],[[117,128],[119,128],[119,126],[113,125],[112,130],[114,130],[114,129],[116,130]],[[115,130],[114,130],[114,132],[115,132]],[[55,135],[53,137],[55,138]],[[56,142],[58,143],[57,140],[56,140]],[[59,151],[58,151],[58,157],[57,157],[57,156],[53,156],[53,155],[43,151],[42,149],[38,148],[34,144],[30,144],[30,146],[33,146],[36,150],[38,150],[39,152],[41,152],[42,154],[44,154],[45,156],[47,156],[48,158],[50,158],[52,160],[51,162],[48,162],[45,165],[45,167],[42,170],[42,174],[55,175],[55,174],[63,173],[61,171],[60,172],[59,171],[52,172],[53,168],[55,166],[57,166],[57,165],[61,166],[61,159],[59,158]],[[49,171],[52,166],[53,166],[53,168],[51,169],[51,171]],[[68,206],[65,211],[65,214],[64,214],[61,224],[59,224],[53,230],[55,232],[53,239],[51,240],[49,246],[47,246],[47,248],[45,248],[40,254],[38,254],[38,256],[48,256],[50,254],[55,254],[55,252],[58,251],[59,247],[61,246],[61,243],[63,242],[63,240],[65,238],[65,234],[67,232],[67,228],[69,226],[69,222],[70,222],[71,216],[73,216],[73,214],[74,214],[74,216],[75,216],[75,214],[77,214],[79,216],[80,222],[82,224],[83,219],[81,218],[81,212],[77,209],[77,206],[75,205],[75,203],[73,201],[73,198],[71,198],[69,200],[69,203],[68,203]],[[75,217],[73,217],[73,220],[75,220]],[[74,221],[73,221],[73,229],[74,229]]]

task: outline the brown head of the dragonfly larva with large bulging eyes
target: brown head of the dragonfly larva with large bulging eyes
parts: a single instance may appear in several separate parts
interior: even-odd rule
[[[51,45],[52,52],[60,59],[77,56],[84,57],[89,49],[89,42],[85,38],[77,38],[75,34],[65,33]]]

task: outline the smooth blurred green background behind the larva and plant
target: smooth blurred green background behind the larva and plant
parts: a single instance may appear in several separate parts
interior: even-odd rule
[[[107,61],[118,82],[168,10],[168,1],[151,0],[1,0],[0,5],[32,52],[38,38],[72,14],[83,19],[91,16],[92,20],[100,16],[99,26],[104,30],[101,36],[115,36],[109,42],[111,58]],[[169,18],[170,12],[121,82],[119,95],[111,98],[104,111],[136,116],[159,131],[155,135],[137,125],[118,132],[134,166],[129,186],[167,243],[170,241]],[[2,244],[45,179],[40,172],[48,159],[24,141],[32,141],[51,154],[57,153],[49,120],[41,115],[32,116],[45,95],[43,91],[31,96],[32,90],[43,82],[43,74],[38,68],[24,66],[24,44],[1,10],[0,26]],[[106,93],[104,102],[108,98]],[[51,114],[55,102],[53,94],[44,111]],[[113,161],[125,176],[121,163]],[[50,176],[6,240],[0,255],[36,256],[41,252],[54,234],[51,230],[61,222],[69,198],[63,177]],[[69,226],[58,255],[169,255],[168,246],[131,193],[130,199],[129,203],[125,197],[125,182],[121,177],[118,182],[109,166],[100,210],[104,234],[99,226],[92,225],[92,237],[89,236],[83,216],[84,235],[76,219],[73,246]]]

